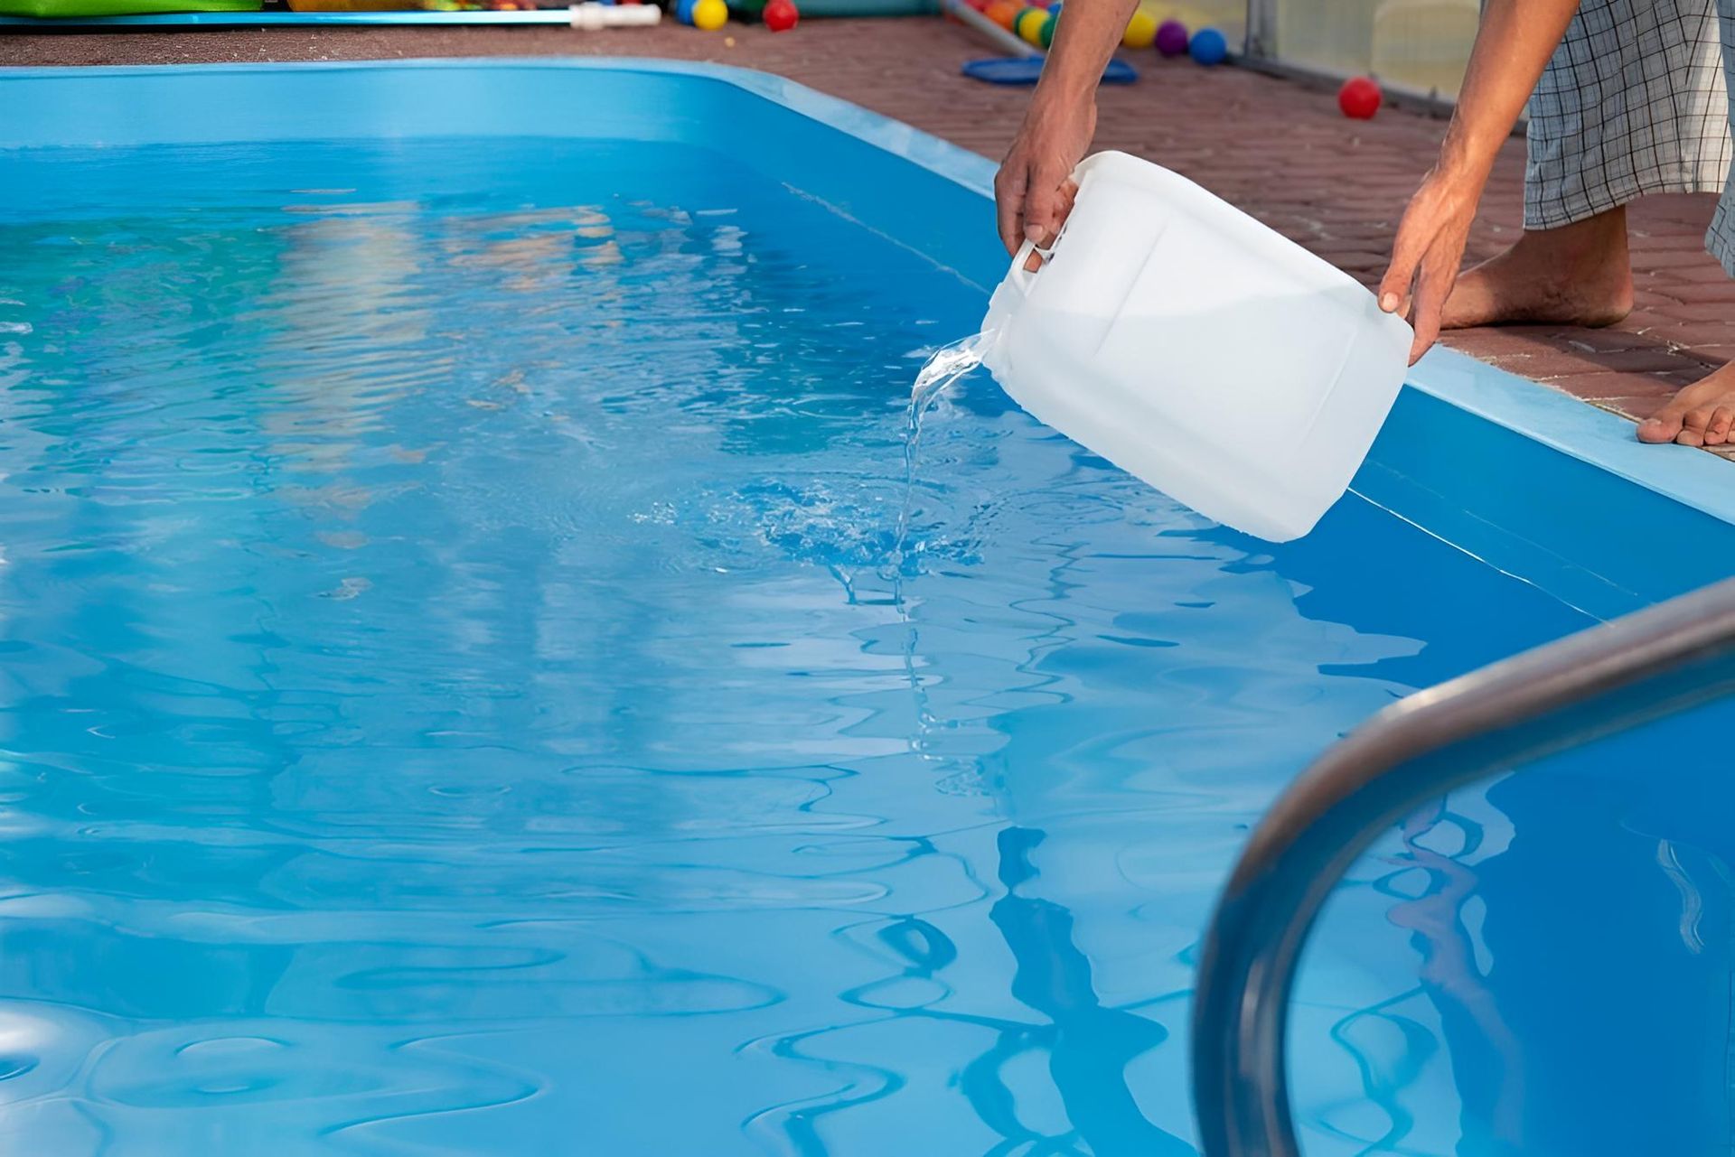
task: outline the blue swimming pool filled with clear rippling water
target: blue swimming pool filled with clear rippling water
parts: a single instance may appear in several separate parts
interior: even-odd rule
[[[1735,559],[1726,463],[1437,357],[1284,546],[972,376],[892,567],[985,168],[772,78],[0,108],[19,1152],[1192,1152],[1192,952],[1286,779]],[[1718,734],[1365,860],[1296,1010],[1310,1154],[1726,1131]]]

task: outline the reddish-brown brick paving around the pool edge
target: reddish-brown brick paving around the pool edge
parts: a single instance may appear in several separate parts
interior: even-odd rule
[[[959,62],[992,52],[935,17],[809,21],[795,33],[730,26],[573,33],[559,28],[279,28],[177,33],[0,35],[3,64],[170,64],[449,56],[652,56],[779,73],[999,156],[1027,90],[965,80]],[[1378,279],[1404,203],[1428,170],[1444,121],[1386,109],[1338,114],[1331,92],[1247,69],[1201,69],[1136,54],[1136,85],[1103,88],[1100,147],[1176,168],[1327,260]],[[1470,258],[1520,229],[1522,141],[1508,142]],[[1629,212],[1636,309],[1608,330],[1466,330],[1468,354],[1627,418],[1735,356],[1735,283],[1704,253],[1711,196],[1640,201]],[[1725,448],[1735,458],[1735,449]]]

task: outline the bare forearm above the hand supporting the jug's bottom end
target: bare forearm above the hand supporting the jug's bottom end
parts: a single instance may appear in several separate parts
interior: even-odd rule
[[[1579,0],[1489,0],[1470,52],[1440,168],[1478,187],[1535,90]]]

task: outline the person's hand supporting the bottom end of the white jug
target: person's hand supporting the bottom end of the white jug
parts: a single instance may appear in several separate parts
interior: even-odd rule
[[[1379,309],[1409,319],[1416,330],[1412,366],[1440,337],[1440,312],[1457,284],[1482,184],[1476,177],[1435,168],[1398,222],[1391,265],[1379,281]]]

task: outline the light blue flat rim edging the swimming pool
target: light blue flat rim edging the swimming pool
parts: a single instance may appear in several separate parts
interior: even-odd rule
[[[120,64],[85,66],[78,73],[108,76],[163,73],[269,73],[370,69],[633,69],[723,82],[899,156],[982,198],[994,196],[996,163],[904,121],[828,95],[798,82],[730,64],[670,61],[633,56],[597,57],[449,57],[387,61],[300,61],[238,64]],[[68,68],[0,68],[9,80],[66,78]],[[3,142],[0,142],[3,147]],[[1490,366],[1466,354],[1435,347],[1405,378],[1405,385],[1464,413],[1504,427],[1541,446],[1598,467],[1664,498],[1735,524],[1735,474],[1714,454],[1686,446],[1645,446],[1633,423],[1560,394],[1541,382]]]

